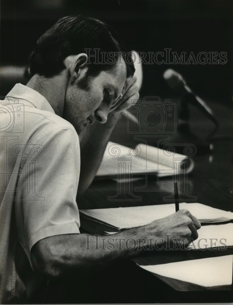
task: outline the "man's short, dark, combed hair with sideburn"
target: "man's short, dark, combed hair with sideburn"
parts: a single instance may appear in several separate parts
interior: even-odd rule
[[[113,28],[106,23],[83,16],[67,16],[59,19],[37,40],[29,57],[30,73],[45,77],[59,74],[65,68],[63,60],[67,56],[86,53],[85,49],[100,49],[99,52],[115,54],[121,52],[123,59],[128,52]],[[128,57],[125,61],[127,77],[133,76],[135,72],[133,60]],[[94,63],[95,61],[90,56],[89,70],[93,76],[112,66],[111,63]]]

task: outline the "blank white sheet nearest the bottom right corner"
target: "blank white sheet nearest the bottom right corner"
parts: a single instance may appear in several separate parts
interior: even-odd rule
[[[204,287],[231,285],[233,255],[140,266],[158,275]]]

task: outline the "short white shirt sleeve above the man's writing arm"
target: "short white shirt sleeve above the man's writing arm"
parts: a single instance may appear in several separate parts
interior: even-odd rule
[[[30,258],[32,246],[53,235],[79,233],[76,203],[80,149],[74,129],[55,129],[26,147],[16,200],[19,240]],[[18,219],[17,219],[18,218]]]

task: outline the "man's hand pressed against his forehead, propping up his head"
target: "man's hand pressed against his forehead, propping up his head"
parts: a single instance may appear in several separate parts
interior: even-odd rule
[[[137,77],[128,77],[126,79],[125,85],[121,92],[120,97],[116,100],[116,102],[111,105],[110,111],[121,112],[123,110],[128,109],[132,106],[133,102],[136,103],[139,99],[138,86],[137,86]],[[135,100],[135,101],[132,101]]]

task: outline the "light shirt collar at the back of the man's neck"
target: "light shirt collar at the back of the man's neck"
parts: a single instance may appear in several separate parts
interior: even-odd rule
[[[41,95],[39,92],[24,86],[22,84],[15,84],[11,91],[6,95],[6,97],[14,97],[17,99],[24,99],[32,104],[37,109],[54,112],[54,109],[47,101],[47,99]]]

